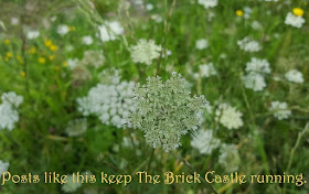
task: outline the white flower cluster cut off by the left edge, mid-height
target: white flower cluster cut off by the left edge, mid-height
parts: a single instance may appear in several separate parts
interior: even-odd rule
[[[0,129],[12,130],[19,121],[18,107],[22,104],[23,97],[13,91],[3,93],[0,105]]]

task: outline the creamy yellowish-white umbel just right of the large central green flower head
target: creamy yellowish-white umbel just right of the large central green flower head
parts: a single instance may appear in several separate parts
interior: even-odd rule
[[[215,110],[215,120],[227,129],[238,129],[242,127],[244,125],[242,116],[242,112],[227,104],[219,105]]]

